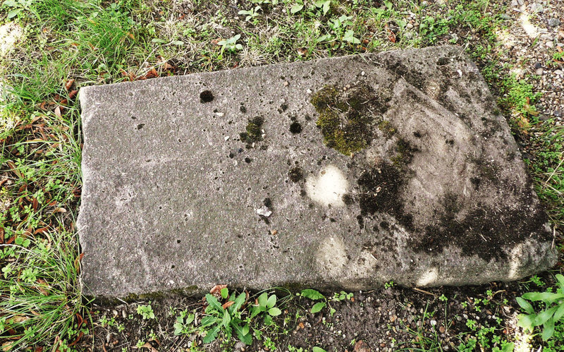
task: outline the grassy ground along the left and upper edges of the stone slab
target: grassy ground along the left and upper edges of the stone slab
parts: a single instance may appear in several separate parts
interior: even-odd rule
[[[416,1],[373,6],[363,0],[330,1],[325,7],[314,1],[254,0],[237,9],[207,1],[193,1],[191,8],[153,0],[9,4],[0,9],[7,33],[0,38],[7,43],[5,38],[17,34],[18,39],[0,51],[0,341],[5,351],[36,345],[70,351],[92,327],[90,305],[78,286],[74,227],[82,143],[75,90],[86,85],[460,44],[479,63],[513,132],[527,140],[537,193],[553,223],[564,224],[564,130],[550,120],[539,122],[532,78],[517,79],[498,61],[496,32],[509,23],[501,16],[503,8],[489,1],[460,1],[444,11]],[[408,12],[415,13],[416,25],[405,20]],[[555,52],[551,63],[561,60]],[[562,341],[562,334],[558,325],[555,339]],[[420,346],[434,346],[433,340],[421,341]]]

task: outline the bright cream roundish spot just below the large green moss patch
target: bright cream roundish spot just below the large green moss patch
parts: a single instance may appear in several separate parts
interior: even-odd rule
[[[317,177],[309,177],[305,190],[309,198],[324,206],[342,207],[343,195],[347,193],[348,182],[341,170],[335,166],[326,166]]]

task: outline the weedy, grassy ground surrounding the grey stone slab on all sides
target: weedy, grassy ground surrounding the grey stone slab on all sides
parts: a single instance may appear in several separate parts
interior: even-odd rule
[[[315,288],[253,293],[216,286],[203,298],[150,303],[94,303],[78,285],[78,89],[165,75],[460,45],[498,98],[553,225],[562,226],[564,129],[537,104],[544,99],[540,78],[519,73],[528,63],[508,56],[503,38],[517,23],[509,6],[488,0],[4,1],[1,350],[561,351],[560,265],[520,283],[459,289],[402,289],[391,282],[329,295]],[[525,47],[539,45],[532,38]],[[543,63],[547,68],[562,68],[558,48]]]

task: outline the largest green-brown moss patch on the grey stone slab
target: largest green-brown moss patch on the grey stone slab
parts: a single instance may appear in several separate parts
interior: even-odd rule
[[[319,114],[317,126],[325,144],[350,155],[370,145],[374,123],[386,111],[389,99],[391,92],[375,92],[367,83],[357,83],[342,89],[323,87],[310,102]]]

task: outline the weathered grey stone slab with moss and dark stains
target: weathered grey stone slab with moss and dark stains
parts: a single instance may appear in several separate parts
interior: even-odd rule
[[[480,284],[556,260],[459,47],[86,87],[80,103],[88,294]]]

